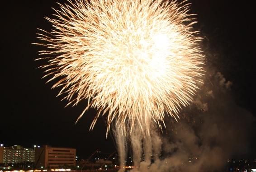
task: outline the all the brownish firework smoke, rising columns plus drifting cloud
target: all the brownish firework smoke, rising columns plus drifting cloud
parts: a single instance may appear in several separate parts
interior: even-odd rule
[[[231,87],[223,74],[208,68],[202,89],[179,122],[166,118],[162,134],[151,124],[151,137],[134,130],[129,140],[135,166],[131,172],[216,172],[228,159],[247,154],[252,146],[247,132],[256,119],[236,105]],[[127,150],[126,141],[117,143]],[[125,162],[123,150],[120,163]]]

